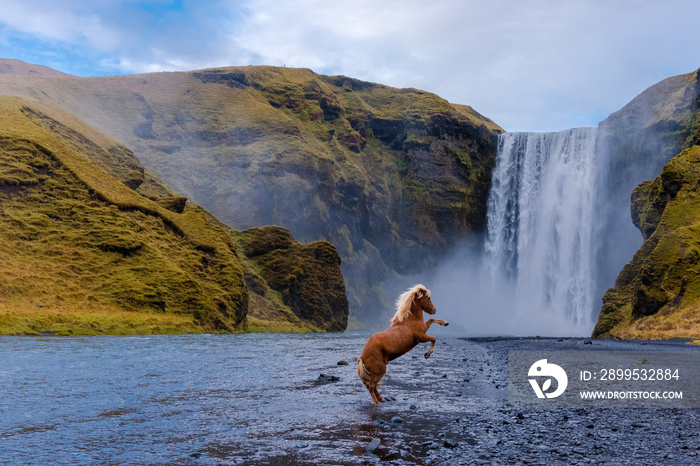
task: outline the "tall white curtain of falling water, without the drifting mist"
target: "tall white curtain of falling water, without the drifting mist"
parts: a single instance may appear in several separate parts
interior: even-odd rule
[[[596,135],[576,128],[499,136],[484,265],[492,285],[512,297],[516,331],[591,331]]]

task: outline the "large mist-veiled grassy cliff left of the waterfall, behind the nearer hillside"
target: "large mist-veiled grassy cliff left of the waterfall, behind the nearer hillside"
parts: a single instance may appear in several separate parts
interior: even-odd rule
[[[0,76],[0,91],[87,119],[232,228],[331,242],[359,320],[485,226],[501,130],[434,94],[273,67]]]

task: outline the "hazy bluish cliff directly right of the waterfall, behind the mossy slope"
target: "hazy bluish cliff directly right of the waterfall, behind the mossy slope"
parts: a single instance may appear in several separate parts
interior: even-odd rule
[[[642,181],[656,178],[671,158],[689,147],[694,133],[696,73],[651,86],[599,125],[599,146],[608,162],[603,183],[600,228],[608,241],[600,245],[599,295],[641,246],[630,222],[630,194]]]

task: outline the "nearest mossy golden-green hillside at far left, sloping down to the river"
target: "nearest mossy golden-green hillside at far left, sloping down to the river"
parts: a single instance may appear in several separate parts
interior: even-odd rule
[[[0,303],[23,314],[37,303],[84,313],[5,333],[146,331],[134,322],[133,330],[85,327],[81,319],[92,308],[127,321],[144,313],[190,316],[170,319],[167,332],[178,331],[174,322],[188,332],[235,330],[245,318],[247,289],[226,234],[194,206],[180,215],[162,209],[79,152],[126,153],[112,150],[116,143],[103,137],[98,142],[114,146],[99,146],[60,124],[60,112],[49,118],[44,112],[51,109],[27,105],[0,99],[0,166],[24,167],[19,183],[0,187]],[[49,120],[50,131],[36,123]]]

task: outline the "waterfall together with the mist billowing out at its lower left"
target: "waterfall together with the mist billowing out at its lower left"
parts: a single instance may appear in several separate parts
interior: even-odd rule
[[[602,304],[596,237],[605,163],[596,143],[596,128],[499,136],[488,233],[456,251],[434,280],[438,311],[455,330],[590,335]]]

